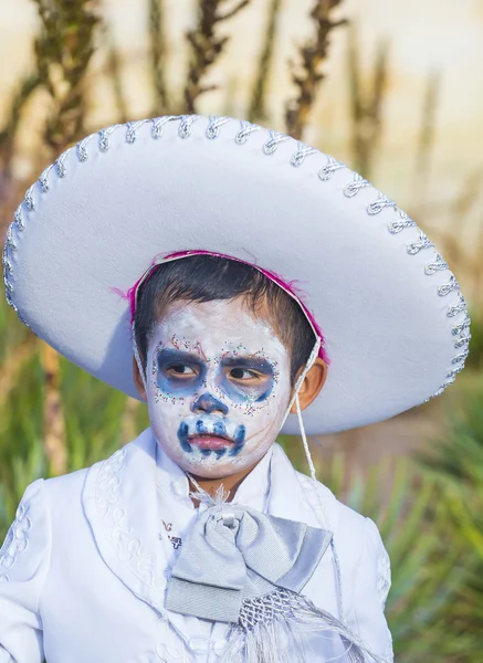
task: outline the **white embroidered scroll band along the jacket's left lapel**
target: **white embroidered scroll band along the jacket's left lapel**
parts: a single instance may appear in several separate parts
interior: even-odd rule
[[[118,559],[126,561],[141,582],[154,588],[156,556],[143,550],[139,538],[129,538],[133,528],[129,527],[126,509],[119,506],[119,475],[124,470],[125,460],[126,448],[123,448],[102,463],[96,485],[97,512],[104,527],[109,530]]]

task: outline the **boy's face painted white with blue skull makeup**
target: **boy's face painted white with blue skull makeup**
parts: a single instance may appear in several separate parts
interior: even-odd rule
[[[147,355],[151,428],[175,463],[221,478],[263,457],[291,396],[290,352],[265,319],[241,299],[176,302]]]

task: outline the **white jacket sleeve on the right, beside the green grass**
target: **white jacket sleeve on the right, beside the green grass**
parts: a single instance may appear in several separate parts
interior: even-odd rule
[[[390,586],[389,556],[376,524],[366,518],[354,591],[356,630],[361,640],[388,663],[393,661],[392,638],[384,611]]]

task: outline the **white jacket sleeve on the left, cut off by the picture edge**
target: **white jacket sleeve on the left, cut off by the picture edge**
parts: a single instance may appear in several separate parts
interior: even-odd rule
[[[31,483],[0,549],[0,663],[42,663],[39,602],[50,560],[44,480]]]

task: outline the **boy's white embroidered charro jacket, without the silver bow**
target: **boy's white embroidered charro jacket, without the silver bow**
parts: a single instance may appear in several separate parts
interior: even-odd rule
[[[159,453],[147,429],[91,469],[28,486],[0,550],[0,663],[218,661],[225,624],[207,629],[203,620],[164,608],[172,560],[160,540],[167,524],[159,512],[162,495],[171,496],[172,508],[185,487],[182,471],[165,454],[160,472]],[[266,512],[321,527],[312,482],[277,444],[269,460]],[[251,478],[253,495],[255,481],[263,481],[262,471]],[[389,560],[379,532],[327,487],[318,490],[338,550],[347,623],[392,661],[384,615]],[[186,530],[181,522],[179,527]],[[339,617],[335,576],[328,548],[303,593]],[[325,660],[323,652],[318,660]]]

